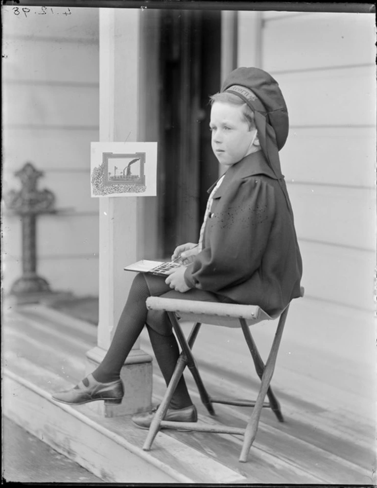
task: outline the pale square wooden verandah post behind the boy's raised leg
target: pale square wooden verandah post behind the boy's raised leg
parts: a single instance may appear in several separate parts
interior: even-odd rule
[[[140,115],[141,9],[106,9],[99,13],[99,125],[100,141],[138,141]],[[134,276],[125,264],[138,259],[141,230],[138,197],[99,199],[99,323],[97,346],[87,353],[88,372],[104,357]],[[121,371],[125,395],[119,406],[94,402],[105,416],[125,415],[149,408],[152,358],[138,340]]]

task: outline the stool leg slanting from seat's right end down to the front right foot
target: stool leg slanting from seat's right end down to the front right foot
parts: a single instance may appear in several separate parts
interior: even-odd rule
[[[288,314],[288,307],[283,311],[282,315],[280,316],[274,341],[272,342],[270,354],[268,355],[266,366],[264,368],[264,372],[262,375],[262,382],[260,385],[257,402],[253,409],[253,413],[249,418],[247,427],[245,429],[241,455],[239,457],[239,461],[241,463],[246,463],[247,455],[249,454],[251,445],[253,444],[254,439],[257,435],[259,417],[262,410],[264,397],[266,396],[272,375],[274,373],[276,358],[278,355],[279,346],[283,335],[284,323],[287,314]]]

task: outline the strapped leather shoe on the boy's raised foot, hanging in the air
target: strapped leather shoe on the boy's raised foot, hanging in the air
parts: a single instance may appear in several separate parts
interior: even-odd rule
[[[85,386],[81,380],[71,390],[54,393],[52,399],[68,405],[82,405],[84,403],[94,402],[95,400],[105,400],[107,404],[112,405],[121,403],[124,388],[120,379],[110,383],[100,383],[94,379],[92,374],[89,374],[87,380],[89,382],[88,386]]]

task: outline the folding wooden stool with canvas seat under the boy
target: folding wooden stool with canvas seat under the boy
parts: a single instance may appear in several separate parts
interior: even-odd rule
[[[304,288],[301,288],[301,296],[303,295]],[[245,463],[250,452],[251,445],[254,442],[257,434],[261,409],[263,407],[270,407],[277,416],[278,420],[283,422],[280,404],[270,387],[270,382],[275,369],[276,358],[283,335],[283,328],[288,314],[289,304],[280,314],[274,317],[270,317],[260,307],[254,305],[202,302],[194,300],[162,298],[156,296],[147,298],[146,305],[149,310],[163,310],[167,313],[177,336],[178,342],[181,345],[182,353],[177,361],[177,365],[167,387],[165,396],[149,427],[148,435],[143,445],[144,451],[149,451],[151,449],[153,440],[160,430],[160,427],[196,432],[238,434],[244,436],[239,461],[241,463]],[[264,365],[257,349],[257,345],[254,342],[250,332],[249,326],[261,322],[262,320],[273,320],[278,317],[280,318],[275,337],[272,342],[268,359]],[[188,339],[186,339],[178,319],[195,322]],[[261,380],[256,401],[214,398],[208,394],[191,352],[191,348],[195,342],[202,323],[242,328],[243,335],[253,358],[256,372]],[[212,403],[254,407],[245,428],[232,427],[228,425],[208,425],[200,422],[173,422],[163,420],[171,397],[186,366],[188,366],[189,370],[191,371],[198,387],[200,398],[211,415],[215,415]],[[266,395],[268,396],[269,402],[264,402]]]

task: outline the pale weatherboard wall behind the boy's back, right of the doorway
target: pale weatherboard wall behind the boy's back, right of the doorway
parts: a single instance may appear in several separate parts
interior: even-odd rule
[[[252,62],[256,15],[239,12],[238,66]],[[290,117],[281,162],[306,298],[374,310],[374,16],[263,12],[260,38],[259,67],[279,82]]]

